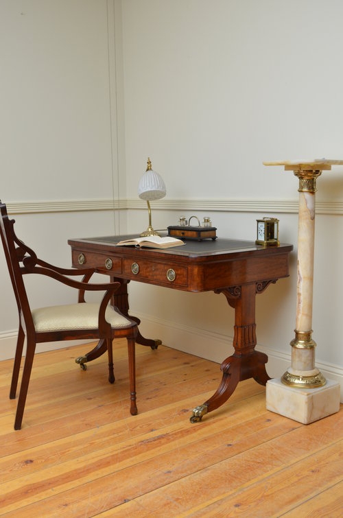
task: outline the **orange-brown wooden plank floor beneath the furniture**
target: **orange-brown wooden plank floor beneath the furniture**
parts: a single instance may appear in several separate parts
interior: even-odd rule
[[[17,432],[12,362],[0,362],[1,516],[342,517],[342,410],[300,425],[265,410],[265,388],[248,380],[191,424],[220,367],[137,346],[130,416],[126,342],[115,342],[114,385],[105,357],[75,364],[88,349],[36,355]]]

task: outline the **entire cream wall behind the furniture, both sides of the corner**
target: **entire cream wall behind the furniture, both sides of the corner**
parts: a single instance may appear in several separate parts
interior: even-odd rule
[[[150,156],[167,185],[155,228],[210,215],[221,237],[255,239],[256,218],[276,215],[296,244],[298,181],[262,162],[343,158],[342,15],[340,0],[1,0],[0,198],[21,237],[69,266],[69,237],[141,231]],[[342,187],[343,167],[318,179],[313,326],[318,366],[340,380]],[[289,279],[257,297],[273,376],[290,362],[295,263],[296,250]],[[0,268],[8,351],[2,255]],[[223,296],[139,283],[130,294],[145,334],[217,362],[230,353]]]

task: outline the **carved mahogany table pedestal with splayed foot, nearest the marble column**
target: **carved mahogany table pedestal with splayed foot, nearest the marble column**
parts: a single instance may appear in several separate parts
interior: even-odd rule
[[[233,394],[239,381],[254,378],[257,383],[265,385],[270,379],[265,370],[268,357],[264,353],[255,351],[256,324],[255,324],[255,297],[271,283],[255,283],[228,287],[216,290],[223,293],[229,305],[235,309],[235,334],[233,346],[235,353],[226,358],[220,366],[222,381],[213,396],[202,405],[193,409],[191,423],[201,421],[202,416],[220,407]]]

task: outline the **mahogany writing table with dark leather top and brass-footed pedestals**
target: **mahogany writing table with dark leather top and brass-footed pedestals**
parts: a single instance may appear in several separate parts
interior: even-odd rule
[[[255,351],[255,298],[270,283],[289,275],[289,252],[293,246],[281,244],[263,248],[255,242],[237,239],[188,241],[185,246],[158,250],[116,246],[132,236],[69,239],[75,268],[96,268],[121,287],[113,303],[129,316],[128,283],[139,281],[185,292],[213,291],[226,296],[235,309],[233,346],[235,353],[222,362],[222,381],[215,394],[193,409],[191,422],[215,410],[233,394],[239,381],[254,378],[265,385],[270,379],[265,364],[267,355]],[[132,317],[138,324],[140,320]],[[156,349],[161,340],[149,340],[139,333],[137,343]],[[94,360],[106,351],[99,342],[93,351],[81,357],[80,364]]]

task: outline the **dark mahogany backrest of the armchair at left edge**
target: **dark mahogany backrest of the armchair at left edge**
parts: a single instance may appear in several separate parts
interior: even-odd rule
[[[19,319],[22,320],[23,318],[27,331],[30,329],[34,331],[34,323],[25,290],[23,274],[29,271],[27,266],[34,265],[36,263],[37,257],[33,250],[16,237],[14,232],[14,220],[9,219],[6,206],[1,203],[1,200],[0,212],[1,241],[3,243],[8,271],[10,273],[12,287],[16,297],[16,304],[18,305]]]

